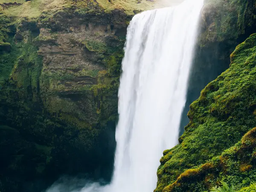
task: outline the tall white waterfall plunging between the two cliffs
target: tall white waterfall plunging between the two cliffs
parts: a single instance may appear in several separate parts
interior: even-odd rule
[[[135,15],[119,87],[113,180],[82,192],[153,192],[165,149],[177,144],[180,116],[204,0]]]

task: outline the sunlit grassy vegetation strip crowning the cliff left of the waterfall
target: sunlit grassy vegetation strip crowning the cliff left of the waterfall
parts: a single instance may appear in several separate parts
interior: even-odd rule
[[[37,18],[41,13],[54,14],[59,10],[78,9],[78,12],[95,12],[88,9],[88,5],[101,7],[106,13],[111,13],[115,10],[123,10],[128,15],[134,15],[134,12],[140,12],[154,7],[163,6],[160,3],[147,0],[0,0],[0,5],[3,6],[3,12],[8,16]]]

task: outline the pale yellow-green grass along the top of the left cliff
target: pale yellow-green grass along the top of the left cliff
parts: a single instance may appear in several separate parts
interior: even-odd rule
[[[122,9],[128,15],[134,15],[134,11],[140,12],[175,5],[181,1],[182,0],[154,0],[154,2],[148,0],[97,0],[97,3],[102,6],[105,12],[111,12],[114,9]],[[88,1],[77,0],[75,3],[73,0],[0,0],[0,4],[15,2],[21,3],[21,5],[13,5],[3,9],[6,15],[12,17],[37,18],[41,12],[44,11],[57,12],[58,10],[71,6],[83,9],[87,7]]]

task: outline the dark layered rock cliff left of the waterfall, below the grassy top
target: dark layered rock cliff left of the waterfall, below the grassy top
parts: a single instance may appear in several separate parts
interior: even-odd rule
[[[0,15],[1,192],[41,191],[61,175],[111,178],[131,16],[87,3],[15,25]]]

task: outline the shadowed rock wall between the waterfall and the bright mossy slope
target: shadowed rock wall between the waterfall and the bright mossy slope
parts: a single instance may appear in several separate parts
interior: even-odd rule
[[[189,123],[189,105],[200,96],[201,90],[210,81],[228,69],[230,54],[236,46],[256,32],[255,2],[205,0],[190,72],[188,96],[180,125],[181,134]]]

